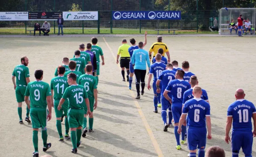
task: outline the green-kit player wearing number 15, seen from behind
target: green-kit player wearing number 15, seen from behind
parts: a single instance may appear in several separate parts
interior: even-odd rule
[[[88,108],[86,114],[91,115],[90,104],[87,92],[84,87],[76,83],[76,74],[70,73],[67,75],[67,82],[70,85],[64,91],[64,94],[58,105],[58,110],[62,104],[68,99],[68,123],[71,130],[71,141],[73,145],[72,153],[77,152],[77,148],[81,143],[82,125],[84,120],[84,108]],[[86,105],[85,105],[86,104]],[[87,106],[87,107],[86,107]]]

